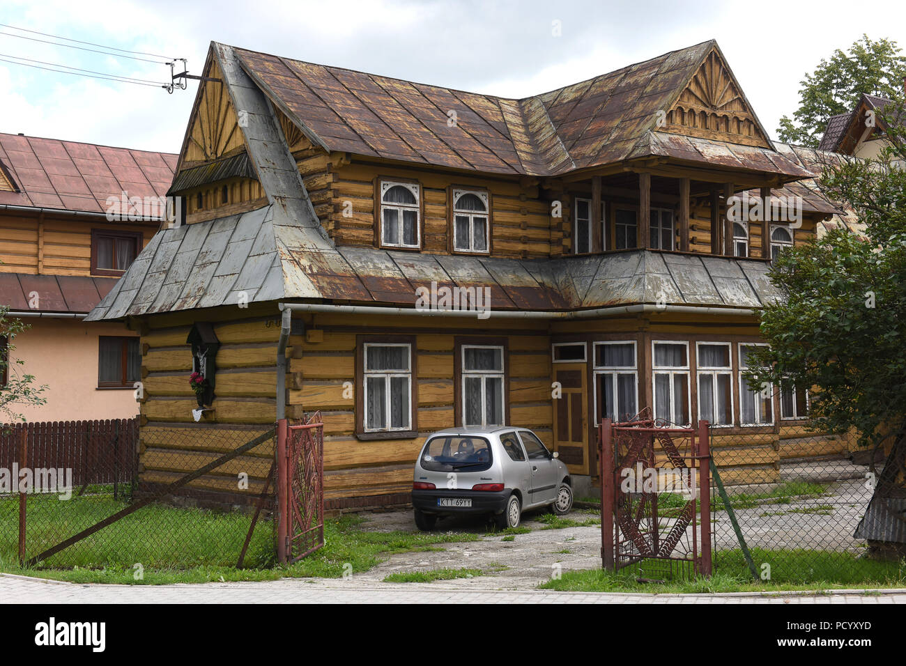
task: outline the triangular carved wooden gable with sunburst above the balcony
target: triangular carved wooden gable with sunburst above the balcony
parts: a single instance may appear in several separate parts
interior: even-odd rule
[[[708,52],[665,120],[663,131],[774,150],[717,49]]]

